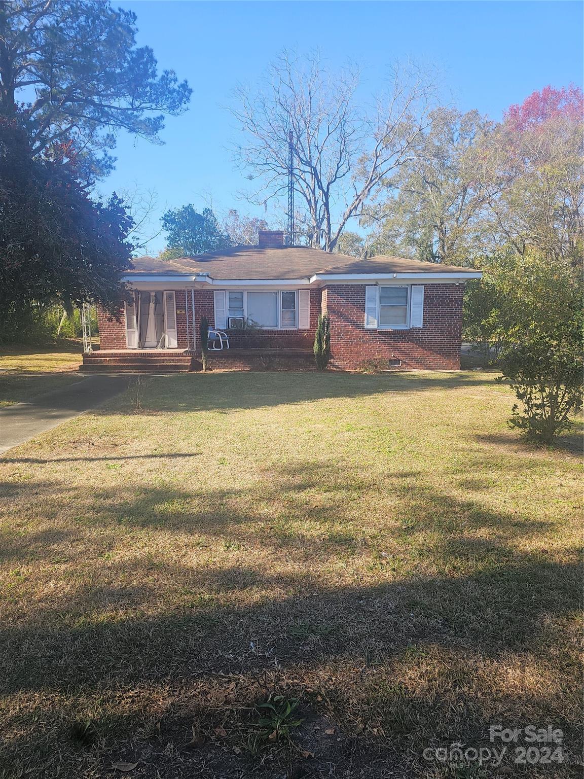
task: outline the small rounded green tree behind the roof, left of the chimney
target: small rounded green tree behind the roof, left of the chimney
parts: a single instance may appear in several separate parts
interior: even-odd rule
[[[164,213],[162,226],[167,232],[167,252],[164,259],[177,256],[192,257],[206,252],[217,252],[230,246],[229,236],[220,227],[210,208],[197,213],[194,206],[171,209]]]

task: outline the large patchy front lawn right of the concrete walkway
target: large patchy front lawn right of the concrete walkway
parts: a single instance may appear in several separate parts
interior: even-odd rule
[[[489,724],[579,775],[581,460],[494,375],[129,397],[0,456],[0,776],[491,777],[423,756]]]

